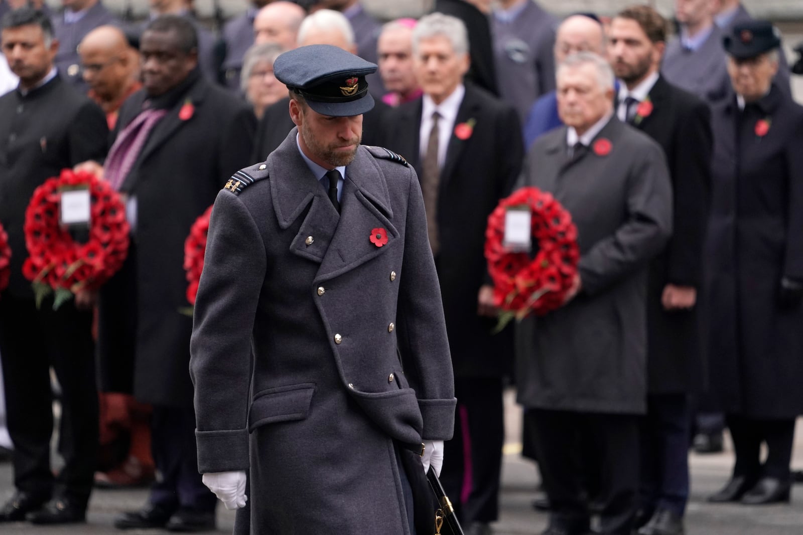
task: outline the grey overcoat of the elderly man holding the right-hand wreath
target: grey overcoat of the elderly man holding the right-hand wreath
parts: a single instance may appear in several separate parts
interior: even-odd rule
[[[658,144],[615,117],[571,158],[566,130],[532,145],[522,185],[552,193],[571,214],[582,290],[563,308],[516,326],[518,400],[528,408],[640,414],[647,266],[672,229],[666,160]]]

